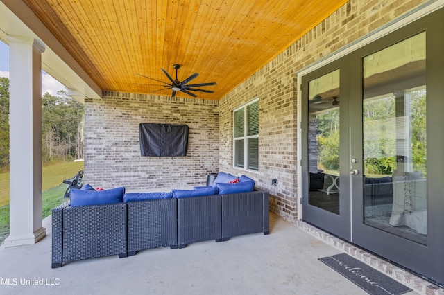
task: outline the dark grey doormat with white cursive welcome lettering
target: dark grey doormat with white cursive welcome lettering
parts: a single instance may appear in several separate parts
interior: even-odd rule
[[[345,253],[319,258],[319,260],[364,289],[368,294],[400,295],[411,291],[396,280]]]

